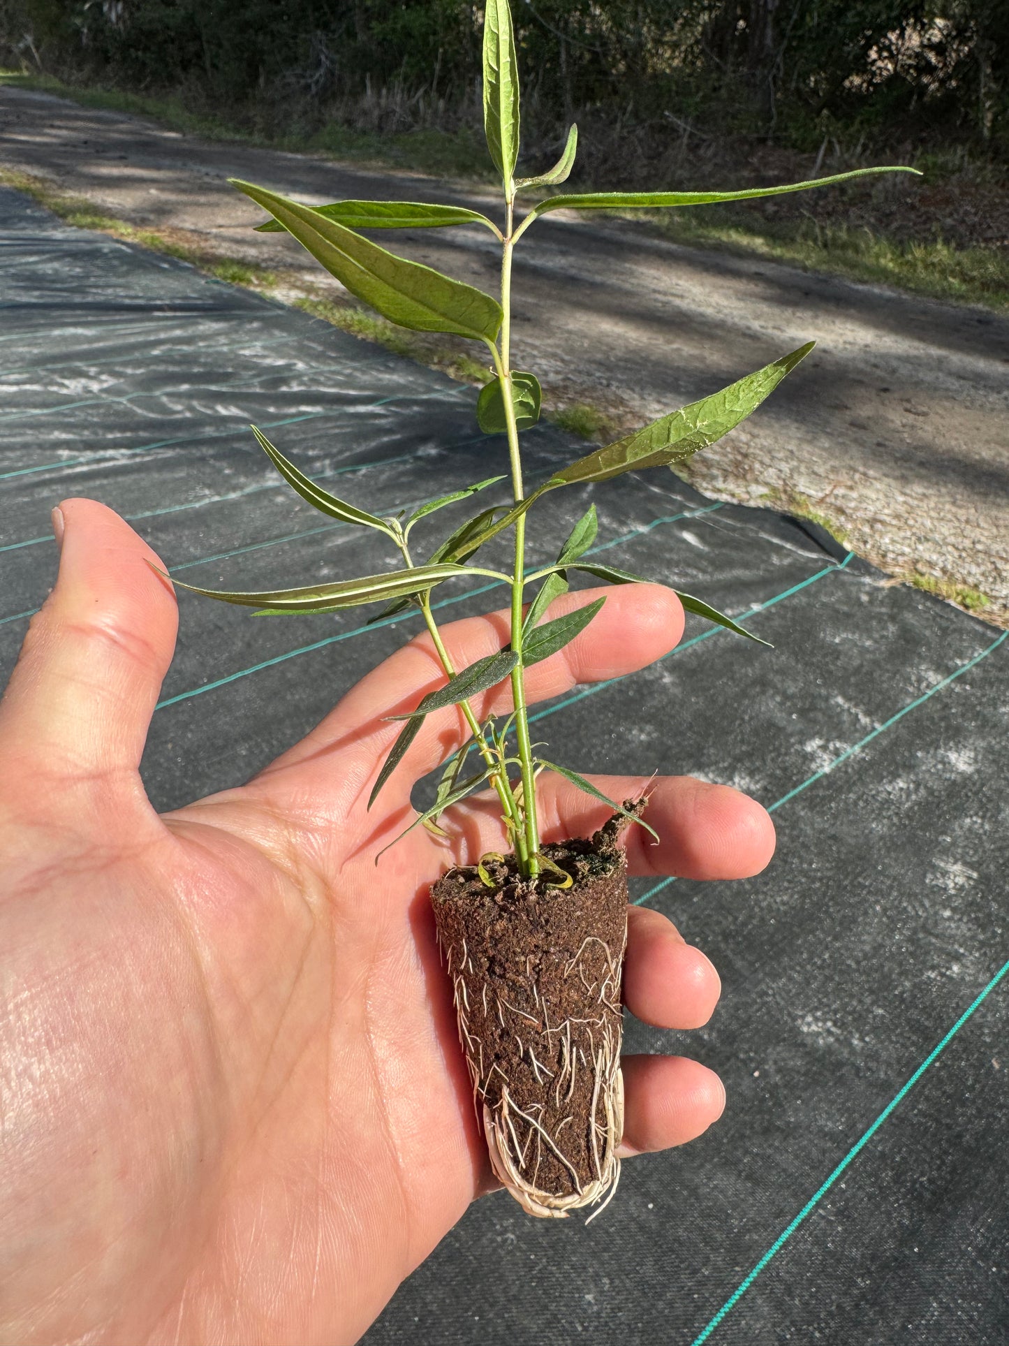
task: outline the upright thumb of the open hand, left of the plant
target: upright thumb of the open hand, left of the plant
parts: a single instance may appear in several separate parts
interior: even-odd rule
[[[55,588],[32,619],[0,703],[7,779],[100,782],[136,771],[175,649],[178,608],[159,557],[89,499],[52,511]]]

